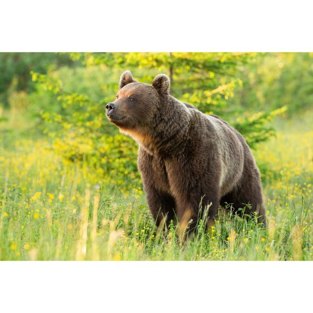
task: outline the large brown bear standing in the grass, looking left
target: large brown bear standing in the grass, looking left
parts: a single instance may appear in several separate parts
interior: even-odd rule
[[[127,70],[106,106],[109,120],[139,144],[138,169],[156,225],[177,217],[191,230],[202,208],[212,223],[219,205],[228,203],[234,210],[246,206],[245,213],[255,212],[266,226],[260,173],[244,137],[218,116],[174,98],[169,88],[165,74],[148,85]]]

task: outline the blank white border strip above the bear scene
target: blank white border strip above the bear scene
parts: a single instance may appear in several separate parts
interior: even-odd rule
[[[0,51],[313,51],[308,0],[1,1]]]

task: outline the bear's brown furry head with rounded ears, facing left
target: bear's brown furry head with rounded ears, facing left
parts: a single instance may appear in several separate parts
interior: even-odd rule
[[[166,110],[164,103],[169,96],[170,79],[165,74],[157,75],[152,85],[139,83],[126,70],[119,81],[115,101],[106,105],[109,120],[122,132],[138,132],[153,123],[159,110]]]

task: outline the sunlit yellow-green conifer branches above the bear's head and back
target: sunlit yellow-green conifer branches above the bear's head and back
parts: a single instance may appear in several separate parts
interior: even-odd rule
[[[76,55],[76,57],[82,57]],[[140,81],[151,83],[155,75],[165,72],[171,78],[171,92],[181,101],[189,102],[201,112],[217,114],[237,128],[253,147],[275,132],[270,122],[287,107],[274,111],[255,112],[243,106],[231,106],[235,90],[242,89],[243,69],[262,59],[256,53],[127,53],[85,54],[87,66],[105,64],[108,67],[130,67]],[[147,72],[150,70],[150,74]],[[254,71],[255,72],[255,71]]]

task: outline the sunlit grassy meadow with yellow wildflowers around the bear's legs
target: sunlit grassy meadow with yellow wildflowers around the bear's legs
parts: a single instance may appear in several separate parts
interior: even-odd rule
[[[118,188],[88,161],[62,158],[22,111],[3,115],[0,260],[313,260],[310,111],[277,119],[276,136],[254,150],[268,230],[222,209],[184,245],[176,225],[156,229],[140,187]]]

